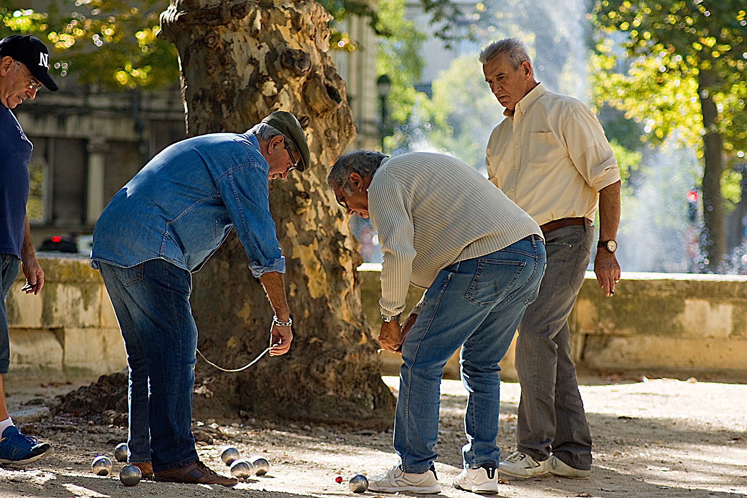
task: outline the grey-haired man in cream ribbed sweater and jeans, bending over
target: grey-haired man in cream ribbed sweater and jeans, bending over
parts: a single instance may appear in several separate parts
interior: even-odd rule
[[[467,443],[457,488],[498,491],[500,376],[509,348],[545,272],[542,231],[503,192],[448,155],[388,158],[350,152],[327,178],[350,214],[370,217],[383,263],[379,342],[402,352],[394,449],[400,463],[369,477],[371,491],[438,493],[438,397],[444,364],[461,346],[470,393]],[[426,290],[400,326],[409,284]]]

